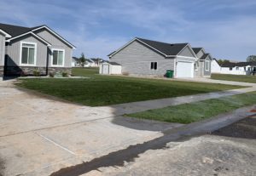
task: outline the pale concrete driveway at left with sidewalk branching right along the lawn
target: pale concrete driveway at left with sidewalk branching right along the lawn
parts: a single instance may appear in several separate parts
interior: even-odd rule
[[[0,169],[3,175],[49,175],[130,145],[160,138],[181,124],[119,116],[134,111],[178,105],[255,90],[211,93],[89,107],[32,94],[0,82]],[[0,172],[0,173],[1,173]],[[1,174],[0,174],[1,175]]]

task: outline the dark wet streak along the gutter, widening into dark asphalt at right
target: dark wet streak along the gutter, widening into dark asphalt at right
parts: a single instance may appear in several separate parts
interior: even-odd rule
[[[212,134],[224,135],[237,138],[256,139],[256,116],[247,116],[239,122],[235,122],[227,127],[220,128]],[[77,176],[97,170],[100,167],[124,166],[125,162],[133,162],[139,154],[146,150],[159,150],[166,148],[167,143],[172,141],[182,141],[201,134],[210,133],[204,130],[195,131],[195,129],[183,128],[179,133],[172,133],[172,130],[165,133],[164,136],[144,142],[143,144],[131,145],[124,150],[114,151],[106,156],[93,159],[90,162],[84,162],[76,166],[62,168],[52,173],[51,176]]]

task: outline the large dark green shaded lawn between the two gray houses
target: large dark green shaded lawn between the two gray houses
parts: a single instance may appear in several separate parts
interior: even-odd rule
[[[189,94],[201,94],[231,88],[224,84],[179,82],[134,77],[113,77],[97,74],[95,68],[73,69],[74,76],[88,79],[35,78],[20,79],[20,87],[37,90],[83,105],[114,105],[148,99],[162,99]]]

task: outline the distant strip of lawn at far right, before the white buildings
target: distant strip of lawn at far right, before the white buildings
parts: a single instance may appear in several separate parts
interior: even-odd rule
[[[252,82],[256,83],[255,76],[247,76],[247,75],[226,75],[226,74],[212,74],[212,79],[218,80],[227,80],[234,82]]]

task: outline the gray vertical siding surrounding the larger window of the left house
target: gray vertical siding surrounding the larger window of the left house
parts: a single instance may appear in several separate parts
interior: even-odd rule
[[[47,46],[31,34],[17,38],[9,43],[7,46],[7,54],[9,56],[7,60],[8,66],[20,65],[20,42],[37,43],[36,66],[46,66]]]

